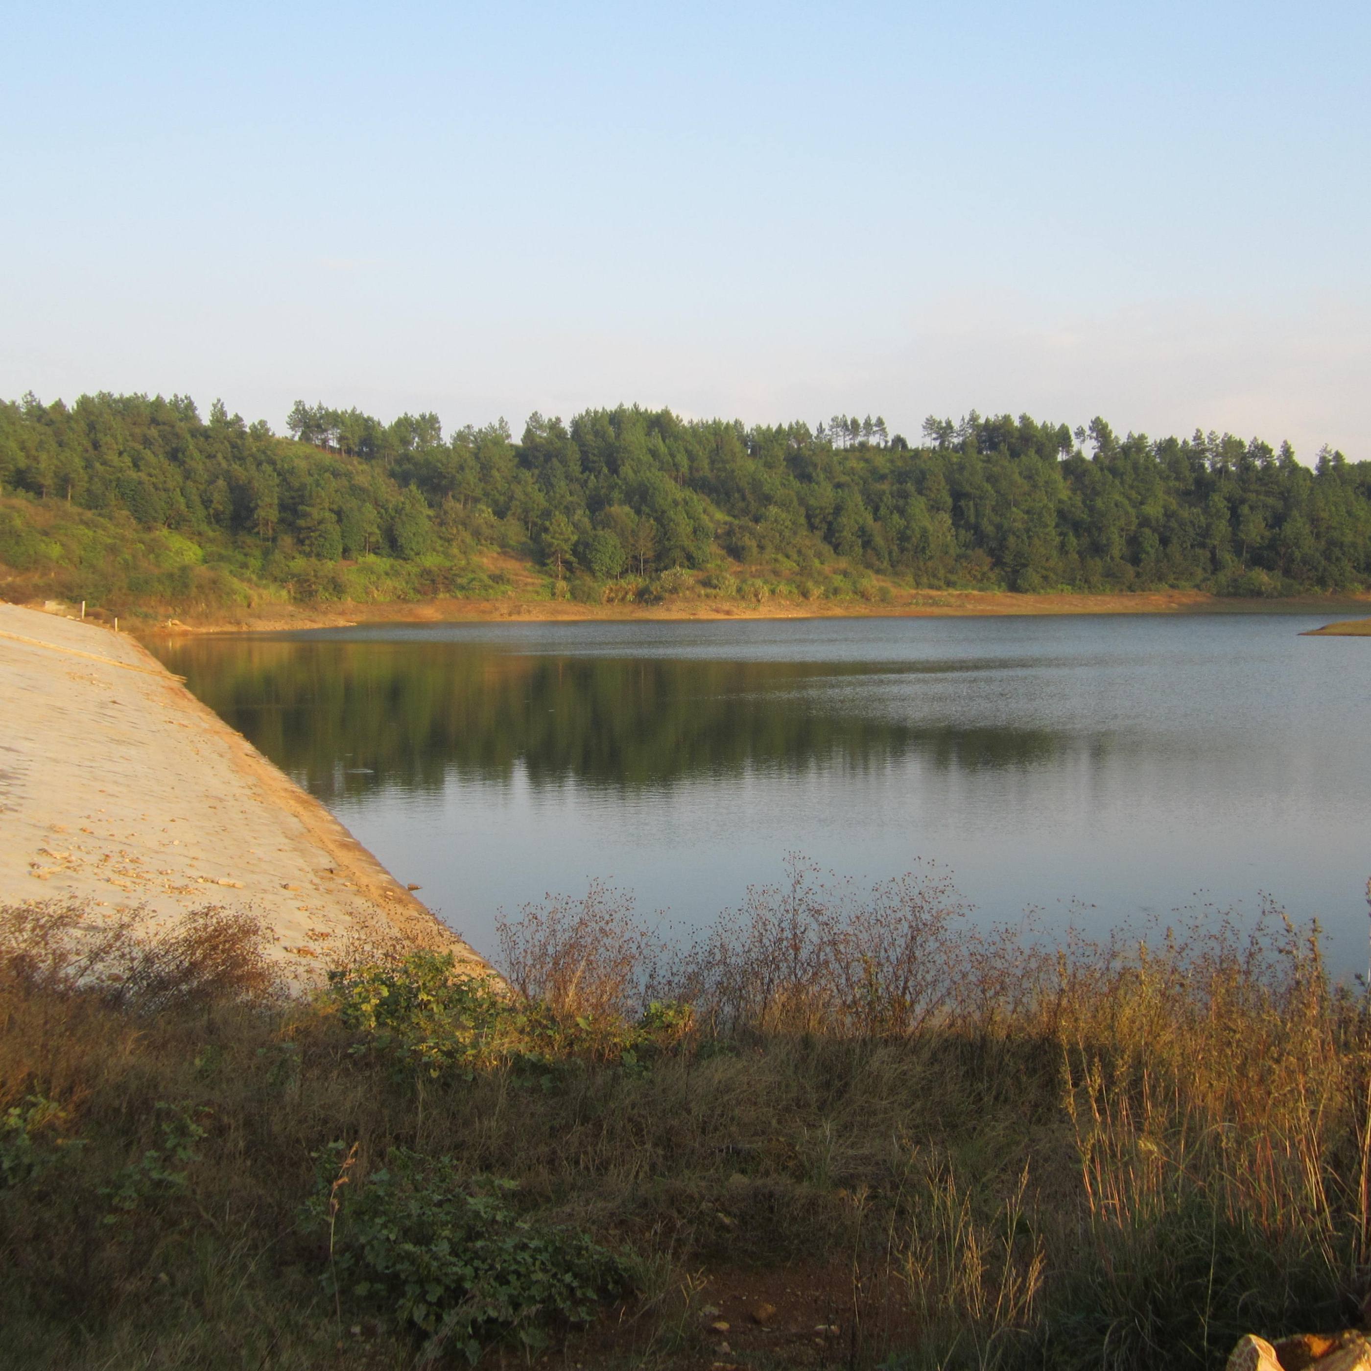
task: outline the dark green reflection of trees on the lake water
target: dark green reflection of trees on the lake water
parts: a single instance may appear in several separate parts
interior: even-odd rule
[[[939,769],[1016,766],[1082,746],[1042,728],[920,724],[862,707],[864,687],[927,673],[927,662],[524,655],[452,642],[219,639],[159,651],[325,802],[380,786],[439,790],[454,772],[507,780],[517,766],[535,787],[632,790],[909,754]]]

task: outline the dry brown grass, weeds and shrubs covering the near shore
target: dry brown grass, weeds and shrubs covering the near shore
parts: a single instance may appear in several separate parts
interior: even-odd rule
[[[1357,1322],[1371,1015],[1272,916],[1041,947],[797,865],[686,947],[592,888],[509,990],[243,916],[0,914],[15,1367],[1222,1364]]]

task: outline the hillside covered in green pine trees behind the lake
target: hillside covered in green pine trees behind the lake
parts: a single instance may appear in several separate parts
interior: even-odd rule
[[[1371,462],[1224,435],[1028,417],[757,426],[669,410],[533,414],[444,436],[298,403],[292,439],[215,403],[0,404],[5,585],[92,600],[849,594],[873,576],[1019,591],[1371,584]],[[691,574],[695,573],[695,574]],[[761,590],[758,590],[758,587]]]

